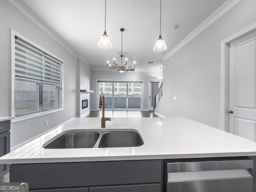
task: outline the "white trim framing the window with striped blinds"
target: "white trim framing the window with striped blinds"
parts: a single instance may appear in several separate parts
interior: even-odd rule
[[[48,54],[54,56],[56,59],[60,60],[62,62],[62,107],[58,108],[58,109],[54,109],[54,110],[49,110],[49,111],[41,111],[38,113],[34,113],[34,114],[28,114],[25,116],[21,116],[21,117],[16,117],[15,118],[15,110],[14,110],[14,106],[15,106],[15,36],[18,36],[20,38],[22,38],[23,40],[25,40],[26,42],[36,46],[37,48],[41,49],[44,52],[47,52]],[[11,64],[12,64],[12,68],[11,68],[11,73],[12,73],[12,95],[11,95],[11,115],[12,117],[14,117],[14,119],[11,120],[11,123],[14,122],[19,122],[19,121],[23,121],[23,120],[27,120],[27,119],[31,119],[31,118],[35,118],[35,117],[39,117],[39,116],[43,116],[46,114],[51,114],[51,113],[55,113],[55,112],[59,112],[62,111],[64,108],[64,61],[62,59],[60,59],[58,56],[52,54],[51,52],[49,52],[48,50],[42,48],[41,46],[39,46],[38,44],[32,42],[31,40],[29,40],[28,38],[22,36],[21,34],[19,34],[18,32],[14,31],[11,29]]]

